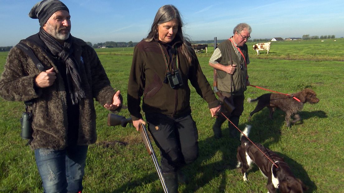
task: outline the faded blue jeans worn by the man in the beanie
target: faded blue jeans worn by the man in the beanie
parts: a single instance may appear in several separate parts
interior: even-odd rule
[[[62,150],[35,149],[44,192],[82,191],[87,149],[76,145]]]

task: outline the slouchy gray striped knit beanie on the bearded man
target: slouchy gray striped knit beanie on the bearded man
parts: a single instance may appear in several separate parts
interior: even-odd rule
[[[38,19],[40,25],[43,26],[51,15],[59,10],[66,10],[69,13],[67,6],[59,0],[43,0],[33,5],[29,17]]]

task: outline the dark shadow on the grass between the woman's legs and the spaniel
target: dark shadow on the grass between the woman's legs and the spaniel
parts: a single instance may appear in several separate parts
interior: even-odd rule
[[[239,125],[240,129],[244,127],[244,124]],[[230,181],[230,179],[227,179],[226,170],[236,169],[236,149],[240,145],[240,141],[239,138],[231,137],[228,127],[222,129],[222,135],[221,139],[215,139],[212,136],[198,142],[200,148],[198,159],[183,168],[183,172],[186,177],[189,177],[187,178],[189,181],[182,192],[195,192],[218,177],[220,177],[220,183],[214,192],[224,192],[226,190],[226,183]],[[218,156],[221,158],[218,159]],[[219,161],[212,162],[211,159]],[[206,162],[211,163],[205,164]],[[191,176],[195,176],[195,178],[190,178]]]

